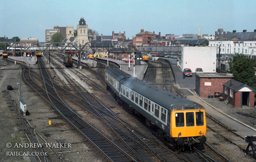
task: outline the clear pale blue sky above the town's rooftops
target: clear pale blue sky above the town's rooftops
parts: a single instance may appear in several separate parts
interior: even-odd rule
[[[140,29],[161,35],[215,35],[218,28],[242,32],[256,29],[255,0],[0,0],[0,37],[36,37],[45,30],[74,26],[83,17],[99,35]]]

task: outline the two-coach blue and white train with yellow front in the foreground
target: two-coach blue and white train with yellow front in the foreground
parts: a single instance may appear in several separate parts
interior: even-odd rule
[[[191,146],[206,142],[205,109],[202,105],[177,96],[117,69],[105,71],[107,87],[116,97],[146,118],[146,124],[158,127],[158,133],[170,144]],[[180,148],[181,148],[180,147]]]

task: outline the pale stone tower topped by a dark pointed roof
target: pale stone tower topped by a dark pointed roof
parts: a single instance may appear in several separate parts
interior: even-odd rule
[[[88,25],[86,25],[84,18],[81,18],[77,25],[77,46],[81,48],[88,42]]]

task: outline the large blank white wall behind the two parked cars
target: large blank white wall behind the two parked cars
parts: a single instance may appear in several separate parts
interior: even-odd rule
[[[181,70],[202,68],[204,73],[216,73],[216,47],[182,47]]]

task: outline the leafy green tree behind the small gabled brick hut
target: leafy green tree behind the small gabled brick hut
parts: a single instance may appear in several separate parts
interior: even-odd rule
[[[243,82],[249,86],[255,81],[256,60],[244,58],[243,54],[235,53],[235,56],[228,61],[230,73],[235,80]]]

